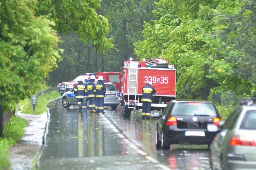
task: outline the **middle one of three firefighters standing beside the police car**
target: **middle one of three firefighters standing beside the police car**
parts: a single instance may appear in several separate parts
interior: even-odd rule
[[[95,81],[95,75],[91,75],[90,77],[90,82],[88,83],[88,86],[87,86],[87,96],[88,96],[88,99],[89,99],[89,109],[90,109],[90,112],[95,112],[95,92],[96,92],[96,85],[94,83]]]

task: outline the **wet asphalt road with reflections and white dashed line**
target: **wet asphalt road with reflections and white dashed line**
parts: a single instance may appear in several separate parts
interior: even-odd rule
[[[121,116],[121,107],[105,114],[77,106],[64,108],[60,98],[47,105],[49,118],[37,169],[180,169],[209,170],[207,146],[155,148],[157,119],[142,120],[135,111]],[[180,149],[175,149],[179,147]],[[203,148],[203,149],[202,149]]]

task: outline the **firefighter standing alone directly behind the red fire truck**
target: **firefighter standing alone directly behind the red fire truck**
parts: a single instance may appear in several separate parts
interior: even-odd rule
[[[153,94],[156,90],[152,86],[152,82],[149,81],[145,86],[142,87],[142,119],[150,119],[151,103]]]

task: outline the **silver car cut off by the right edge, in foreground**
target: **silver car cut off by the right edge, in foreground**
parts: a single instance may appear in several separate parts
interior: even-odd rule
[[[219,123],[224,125],[210,146],[213,170],[256,169],[256,104],[248,102]]]

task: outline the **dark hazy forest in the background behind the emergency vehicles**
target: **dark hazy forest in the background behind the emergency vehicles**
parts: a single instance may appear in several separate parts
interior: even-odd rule
[[[61,54],[63,60],[59,68],[50,73],[49,82],[57,85],[63,81],[72,81],[85,72],[96,71],[120,72],[123,61],[134,57],[133,43],[142,39],[143,21],[154,19],[152,10],[154,0],[102,0],[97,13],[108,18],[110,31],[108,37],[113,39],[114,48],[105,49],[103,55],[93,45],[79,41],[78,35],[72,33],[68,37],[62,36],[64,49]]]

